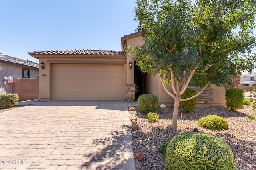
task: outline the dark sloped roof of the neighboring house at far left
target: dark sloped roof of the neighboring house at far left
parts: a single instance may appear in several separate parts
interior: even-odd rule
[[[15,64],[19,66],[29,66],[34,68],[39,68],[39,64],[35,63],[33,61],[20,59],[17,57],[12,57],[10,55],[5,55],[3,53],[0,53],[0,63],[7,63],[7,64]]]

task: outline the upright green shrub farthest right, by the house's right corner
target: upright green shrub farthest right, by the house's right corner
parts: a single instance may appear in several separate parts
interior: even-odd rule
[[[226,105],[230,111],[236,111],[244,104],[244,90],[230,88],[225,93]]]

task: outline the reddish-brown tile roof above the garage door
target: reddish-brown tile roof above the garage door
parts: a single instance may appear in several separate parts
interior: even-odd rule
[[[28,52],[28,54],[29,55],[124,55],[122,51],[97,50],[97,49],[31,51],[31,52]]]

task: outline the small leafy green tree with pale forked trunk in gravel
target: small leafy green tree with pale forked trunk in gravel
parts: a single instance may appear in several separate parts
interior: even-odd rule
[[[142,72],[171,84],[173,93],[164,88],[174,98],[174,129],[180,101],[213,84],[227,86],[237,72],[255,68],[255,6],[254,0],[137,0],[134,21],[144,44],[130,55]],[[202,90],[181,99],[190,81]]]

